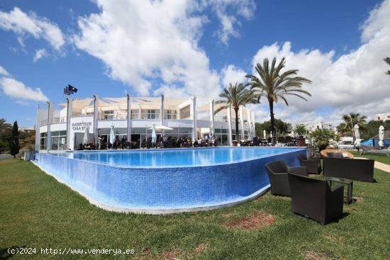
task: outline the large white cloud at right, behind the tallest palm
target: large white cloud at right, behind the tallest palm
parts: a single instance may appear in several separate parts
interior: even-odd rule
[[[384,1],[371,13],[362,26],[362,45],[335,59],[334,51],[291,50],[291,43],[274,43],[262,47],[252,65],[264,57],[286,57],[287,69],[299,69],[299,74],[313,81],[304,86],[311,92],[308,102],[290,98],[290,106],[278,104],[276,117],[290,120],[340,120],[342,113],[359,112],[369,117],[390,111],[390,79],[386,77],[384,56],[390,53],[390,0]],[[252,71],[252,73],[255,73]],[[263,101],[264,102],[264,101]],[[265,102],[267,103],[267,102]],[[267,104],[265,104],[267,105]],[[266,109],[267,106],[262,108]],[[313,111],[328,113],[313,114]],[[317,115],[317,116],[316,116]]]

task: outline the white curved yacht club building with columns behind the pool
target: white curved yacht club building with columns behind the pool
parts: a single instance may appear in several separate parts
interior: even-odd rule
[[[150,137],[152,125],[165,125],[167,137],[191,137],[191,140],[213,132],[218,145],[231,145],[235,135],[235,115],[232,109],[216,115],[218,108],[213,101],[204,106],[196,105],[196,97],[186,99],[147,97],[136,98],[84,98],[70,99],[55,110],[53,103],[47,108],[38,108],[35,149],[79,149],[84,132],[89,128],[91,140],[98,137],[107,140],[114,126],[116,135],[126,136],[128,142],[143,142]],[[250,139],[255,135],[255,114],[240,108],[239,135]],[[157,133],[157,135],[160,135]],[[235,139],[235,137],[233,137]]]

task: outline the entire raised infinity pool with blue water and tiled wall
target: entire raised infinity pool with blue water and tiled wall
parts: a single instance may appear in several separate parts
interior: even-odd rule
[[[39,152],[34,163],[101,208],[177,213],[235,205],[269,188],[264,164],[297,166],[296,147]]]

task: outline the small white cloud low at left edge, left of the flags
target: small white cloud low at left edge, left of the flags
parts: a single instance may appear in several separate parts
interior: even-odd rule
[[[46,97],[39,88],[30,88],[26,86],[21,81],[16,79],[11,79],[9,77],[0,78],[0,88],[11,98],[16,98],[18,100],[25,101],[48,101]]]

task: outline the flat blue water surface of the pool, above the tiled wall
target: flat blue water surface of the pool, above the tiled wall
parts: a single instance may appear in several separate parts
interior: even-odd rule
[[[201,149],[152,149],[133,151],[61,152],[55,155],[69,159],[96,162],[111,166],[133,168],[170,168],[231,164],[269,157],[300,148],[201,148]]]

